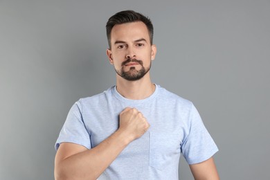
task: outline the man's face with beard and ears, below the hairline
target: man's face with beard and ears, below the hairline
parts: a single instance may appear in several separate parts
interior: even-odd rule
[[[111,49],[107,49],[107,55],[120,77],[139,80],[150,70],[156,46],[151,46],[143,22],[119,24],[111,30]]]

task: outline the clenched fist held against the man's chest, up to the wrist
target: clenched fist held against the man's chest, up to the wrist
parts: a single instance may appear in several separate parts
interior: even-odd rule
[[[129,141],[134,141],[147,132],[150,124],[135,108],[127,107],[120,113],[119,131],[125,132]]]

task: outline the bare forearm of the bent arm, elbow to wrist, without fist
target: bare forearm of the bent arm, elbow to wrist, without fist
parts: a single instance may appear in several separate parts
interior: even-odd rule
[[[99,145],[55,163],[55,179],[97,179],[129,144],[119,131]]]

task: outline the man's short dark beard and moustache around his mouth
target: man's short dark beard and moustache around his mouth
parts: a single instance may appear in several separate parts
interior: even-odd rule
[[[129,68],[129,71],[124,71],[125,64],[127,64],[129,62],[137,62],[138,64],[141,65],[141,69],[136,70],[136,68],[134,66],[131,66]],[[140,80],[141,78],[143,78],[143,76],[146,73],[148,73],[148,71],[150,71],[150,68],[151,68],[151,64],[150,64],[150,66],[147,69],[145,69],[145,67],[143,66],[143,62],[141,60],[136,60],[136,59],[127,59],[121,65],[122,65],[122,68],[120,70],[115,69],[115,71],[122,78],[124,78],[125,80],[129,80],[129,81]]]

